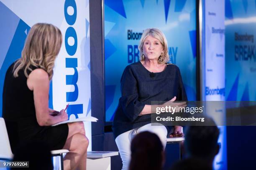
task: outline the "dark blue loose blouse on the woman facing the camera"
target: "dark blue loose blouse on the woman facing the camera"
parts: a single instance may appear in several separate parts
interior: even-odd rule
[[[167,64],[165,70],[155,72],[154,77],[150,73],[140,61],[125,67],[121,77],[122,96],[112,127],[115,138],[151,123],[151,114],[138,116],[151,101],[169,101],[174,96],[177,101],[187,101],[179,67]]]

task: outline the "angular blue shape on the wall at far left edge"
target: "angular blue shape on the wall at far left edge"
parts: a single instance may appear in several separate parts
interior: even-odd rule
[[[30,27],[13,11],[0,2],[0,117],[2,117],[2,94],[5,72],[21,56]]]

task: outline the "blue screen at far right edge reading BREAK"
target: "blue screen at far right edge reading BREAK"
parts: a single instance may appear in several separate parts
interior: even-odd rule
[[[256,1],[225,1],[226,100],[256,100]]]

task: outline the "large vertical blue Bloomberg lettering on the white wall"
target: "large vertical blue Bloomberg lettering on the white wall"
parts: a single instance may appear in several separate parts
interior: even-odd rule
[[[77,33],[76,33],[76,30],[72,27],[72,25],[74,25],[74,23],[77,20],[77,5],[74,0],[65,0],[64,15],[65,15],[65,20],[69,25],[69,27],[65,32],[65,48],[66,48],[67,54],[69,56],[73,56],[77,52]],[[68,40],[70,39],[74,41],[73,45],[70,45],[68,43]],[[66,85],[74,86],[74,92],[66,92],[66,101],[75,102],[77,101],[78,93],[79,93],[78,86],[77,86],[77,80],[78,80],[77,57],[72,57],[72,58],[66,57],[66,68],[74,69],[74,75],[66,75]],[[82,113],[83,113],[83,104],[69,105],[69,107],[67,108],[67,114],[69,115],[69,117],[71,114],[73,114],[75,115],[76,118],[78,118],[78,114],[82,114]]]

